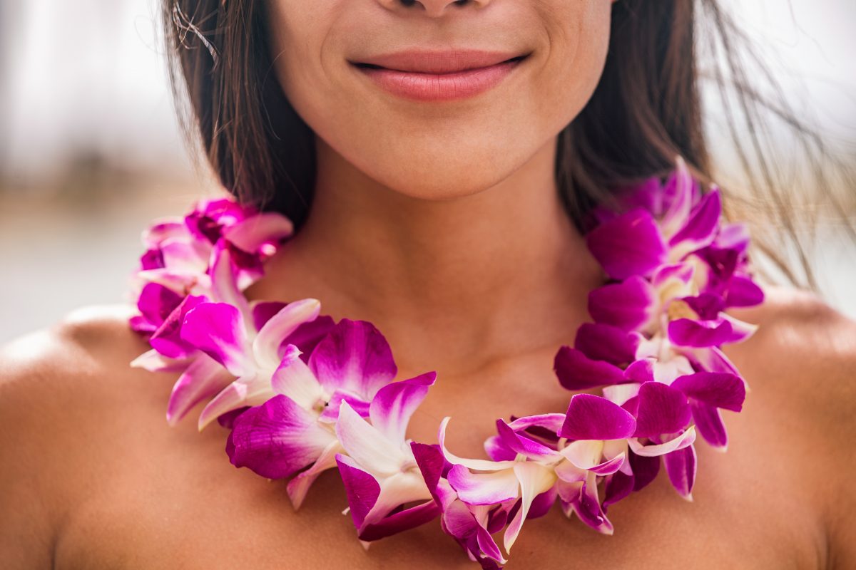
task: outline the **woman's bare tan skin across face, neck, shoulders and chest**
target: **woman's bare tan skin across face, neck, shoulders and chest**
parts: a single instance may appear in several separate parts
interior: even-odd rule
[[[288,21],[302,29],[310,24],[300,21],[299,4],[306,5],[276,3],[291,10]],[[353,20],[336,20],[345,9],[379,7],[387,10],[384,17],[413,18],[420,26],[448,15],[446,9],[457,10],[450,22],[470,15],[448,2],[426,1],[410,11],[383,2],[321,4],[328,9],[318,9],[320,21],[332,20],[318,35],[306,32],[310,51],[350,37],[326,31],[366,37],[357,12],[350,13]],[[572,65],[579,66],[577,78],[591,72],[596,82],[603,54],[592,38],[604,24],[608,29],[606,8],[605,2],[508,8],[522,10],[512,21],[532,24],[514,29],[528,31],[521,44],[532,39],[541,58],[530,62],[527,77],[546,82],[532,91],[547,103],[558,101],[548,89],[558,70],[545,70],[566,65],[559,56],[570,48],[562,42],[576,40],[556,34],[552,24],[538,34],[537,23],[550,21],[539,18],[573,19],[576,29],[591,32],[591,41],[580,39],[586,56]],[[496,17],[508,22],[508,14]],[[288,57],[301,56],[318,62],[299,50]],[[288,57],[277,69],[283,85],[293,63]],[[590,93],[582,85],[587,79],[580,79],[579,105],[567,103],[568,117],[549,104],[526,107],[520,91],[498,89],[480,104],[450,107],[448,123],[439,121],[433,138],[408,135],[420,132],[422,115],[377,93],[355,91],[354,104],[365,105],[360,109],[313,114],[313,106],[332,103],[325,97],[341,97],[323,88],[330,85],[313,85],[313,78],[357,80],[336,74],[347,68],[330,76],[321,71],[330,69],[308,65],[300,78],[306,91],[289,92],[319,132],[312,214],[247,295],[317,297],[324,314],[372,320],[393,347],[399,379],[438,373],[409,436],[435,442],[439,421],[450,415],[451,449],[482,456],[496,418],[567,406],[570,394],[556,382],[552,358],[588,320],[586,294],[603,279],[563,214],[551,174],[558,128],[553,132],[550,121],[558,126],[578,112],[574,106]],[[304,97],[313,89],[317,100]],[[470,115],[483,106],[502,108],[509,97],[520,99],[530,120],[484,126],[484,116]],[[390,114],[397,128],[377,136],[377,121]],[[341,130],[331,128],[342,120],[349,122]],[[496,142],[517,127],[520,137]],[[467,161],[461,147],[450,144],[454,138],[444,138],[461,128],[473,133],[459,141],[472,145],[466,150],[475,155]],[[82,309],[0,352],[3,567],[477,567],[436,521],[366,553],[340,514],[347,502],[335,471],[318,480],[294,513],[283,481],[229,464],[223,428],[197,432],[199,408],[169,427],[164,414],[175,374],[128,367],[147,348],[129,331],[129,314],[128,307]],[[856,323],[809,294],[776,288],[768,288],[764,306],[732,314],[760,325],[745,343],[726,347],[752,391],[742,413],[725,414],[726,454],[698,444],[694,502],[678,497],[661,473],[645,491],[610,508],[612,537],[554,508],[526,522],[508,568],[856,567],[850,482]]]

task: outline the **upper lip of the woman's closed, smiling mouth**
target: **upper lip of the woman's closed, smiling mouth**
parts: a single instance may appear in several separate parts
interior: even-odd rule
[[[490,50],[404,50],[361,59],[354,64],[414,73],[455,73],[467,69],[488,68],[527,53]]]

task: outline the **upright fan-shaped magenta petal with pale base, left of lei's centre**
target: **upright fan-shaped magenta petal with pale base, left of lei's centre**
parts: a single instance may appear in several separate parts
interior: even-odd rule
[[[383,334],[365,320],[342,319],[322,340],[309,367],[327,391],[353,391],[371,400],[395,378],[397,368]]]

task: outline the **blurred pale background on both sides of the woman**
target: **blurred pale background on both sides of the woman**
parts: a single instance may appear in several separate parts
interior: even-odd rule
[[[830,146],[852,145],[856,2],[725,5],[763,46],[794,109]],[[711,105],[711,129],[718,115]],[[783,161],[798,159],[787,135],[780,142]],[[734,160],[728,144],[715,150]],[[0,344],[80,306],[124,300],[148,220],[216,191],[193,164],[156,0],[0,0]],[[853,188],[839,190],[843,217],[823,210],[816,228],[800,231],[814,238],[823,297],[856,318],[856,247],[845,231],[856,201]]]

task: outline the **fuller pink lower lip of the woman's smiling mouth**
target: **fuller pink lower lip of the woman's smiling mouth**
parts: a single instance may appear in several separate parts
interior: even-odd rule
[[[525,59],[525,58],[524,58]],[[416,101],[455,101],[475,97],[498,85],[523,60],[456,73],[413,73],[386,68],[360,68],[383,90]]]

